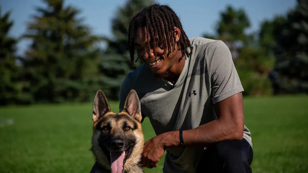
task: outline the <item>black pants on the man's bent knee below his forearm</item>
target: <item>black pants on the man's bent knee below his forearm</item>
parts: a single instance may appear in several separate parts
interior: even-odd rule
[[[252,161],[253,149],[245,139],[223,141],[204,150],[197,172],[252,172]]]

